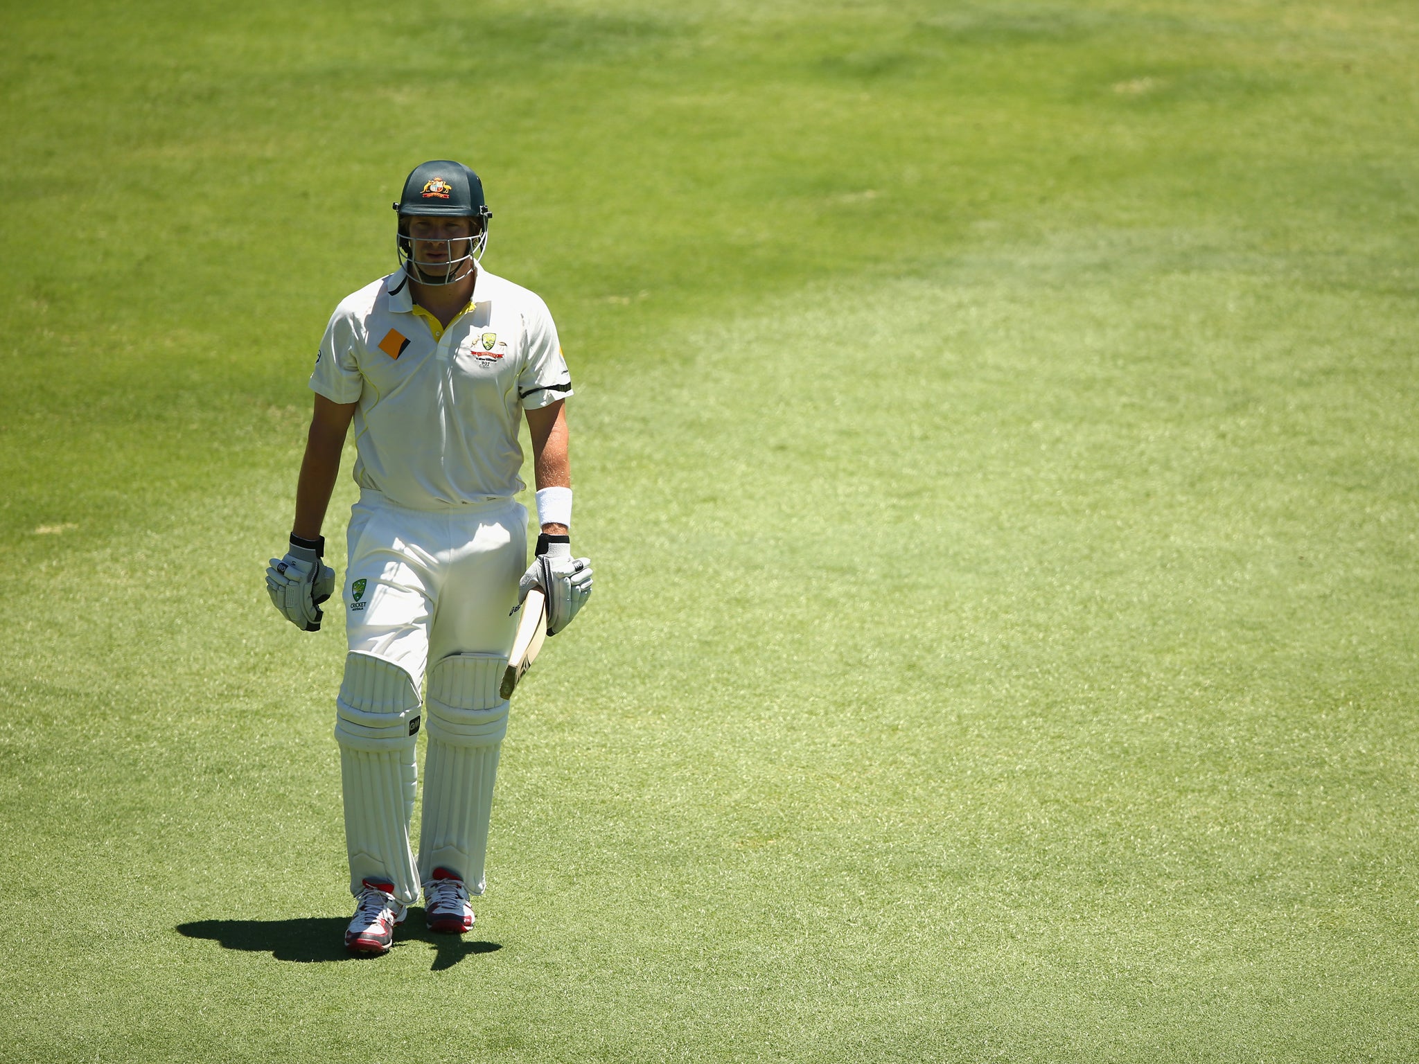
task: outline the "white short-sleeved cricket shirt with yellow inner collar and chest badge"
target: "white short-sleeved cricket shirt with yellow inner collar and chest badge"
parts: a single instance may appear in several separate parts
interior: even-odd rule
[[[572,394],[541,297],[478,270],[473,299],[436,338],[403,272],[331,315],[311,390],[355,407],[355,482],[412,509],[457,509],[524,484],[518,421]]]

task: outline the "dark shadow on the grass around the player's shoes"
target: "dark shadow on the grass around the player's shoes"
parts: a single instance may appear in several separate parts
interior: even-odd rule
[[[199,919],[179,924],[177,933],[187,938],[209,938],[226,949],[270,953],[277,960],[315,963],[321,960],[350,960],[345,951],[345,916],[299,916],[297,919]],[[453,968],[470,953],[492,953],[501,942],[470,942],[461,935],[436,935],[424,928],[424,911],[409,909],[409,916],[394,931],[393,949],[412,942],[427,942],[434,948],[431,970]]]

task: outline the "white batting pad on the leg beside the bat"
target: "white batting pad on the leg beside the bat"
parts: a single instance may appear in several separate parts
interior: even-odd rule
[[[485,885],[492,783],[508,731],[508,704],[498,695],[507,667],[502,654],[453,654],[429,670],[419,874],[427,881],[434,868],[448,868],[470,894]]]

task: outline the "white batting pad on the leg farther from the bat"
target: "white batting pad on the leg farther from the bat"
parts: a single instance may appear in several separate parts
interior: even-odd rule
[[[399,901],[419,901],[419,875],[409,848],[417,731],[419,691],[413,678],[392,661],[350,653],[335,701],[350,894],[359,894],[362,880],[387,880]]]

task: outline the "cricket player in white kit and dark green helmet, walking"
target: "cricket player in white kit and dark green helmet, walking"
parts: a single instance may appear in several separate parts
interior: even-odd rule
[[[508,704],[498,694],[518,610],[545,592],[548,631],[592,590],[570,548],[563,404],[572,380],[535,294],[481,267],[492,211],[463,163],[414,167],[394,204],[399,268],[335,308],[311,373],[315,413],[285,558],[267,589],[298,628],[335,592],[321,525],[355,423],[345,633],[335,701],[355,916],[345,945],[389,951],[424,895],[431,931],[473,926]],[[526,567],[518,419],[532,438],[542,533]],[[427,688],[424,681],[427,680]],[[420,691],[424,691],[420,698]],[[414,741],[429,733],[416,857]]]

